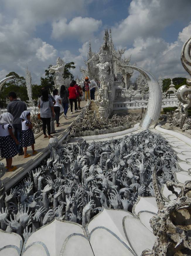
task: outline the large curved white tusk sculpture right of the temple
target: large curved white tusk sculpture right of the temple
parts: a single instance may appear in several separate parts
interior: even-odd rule
[[[161,88],[153,75],[143,68],[137,66],[126,66],[139,71],[148,81],[149,86],[149,103],[146,112],[140,122],[142,129],[154,128],[157,125],[161,113],[162,93]]]

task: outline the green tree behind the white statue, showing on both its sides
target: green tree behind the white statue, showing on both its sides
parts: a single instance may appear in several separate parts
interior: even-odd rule
[[[52,67],[52,65],[49,65],[48,69]],[[74,62],[69,62],[65,64],[64,67],[64,73],[63,73],[63,78],[64,79],[69,79],[71,77],[71,80],[74,79],[73,74],[70,72],[70,69],[75,69],[76,67],[74,66]],[[41,77],[40,78],[40,84],[41,87],[46,87],[49,88],[50,91],[52,92],[54,89],[54,73],[49,74],[48,69],[45,70],[45,78]]]

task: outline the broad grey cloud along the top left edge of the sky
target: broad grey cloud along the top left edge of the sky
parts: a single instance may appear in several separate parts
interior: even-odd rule
[[[5,11],[23,21],[23,26],[35,29],[38,24],[52,22],[62,17],[74,17],[86,13],[86,0],[2,0]],[[11,10],[12,9],[12,10]]]

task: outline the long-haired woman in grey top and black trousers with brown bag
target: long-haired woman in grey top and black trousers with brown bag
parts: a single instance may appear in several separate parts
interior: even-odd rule
[[[50,120],[51,116],[54,118],[54,104],[49,97],[47,90],[42,90],[42,96],[39,99],[38,107],[40,109],[40,117],[42,120],[42,130],[44,138],[47,138],[46,127],[48,131],[48,138],[52,138],[50,135]]]

